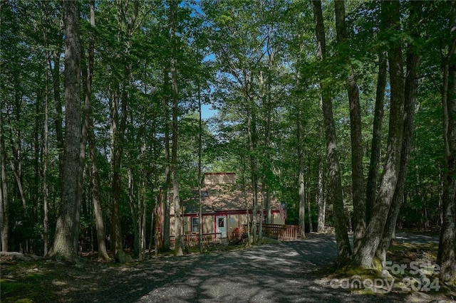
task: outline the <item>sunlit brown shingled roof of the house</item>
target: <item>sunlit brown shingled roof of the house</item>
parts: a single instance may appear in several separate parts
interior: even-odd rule
[[[258,201],[262,201],[261,190],[258,193]],[[245,211],[247,207],[252,209],[252,189],[242,192],[239,184],[207,184],[201,190],[202,212],[215,213],[219,211]],[[184,202],[185,213],[198,213],[198,190],[194,191],[193,198]],[[271,196],[271,208],[279,209],[279,202]]]

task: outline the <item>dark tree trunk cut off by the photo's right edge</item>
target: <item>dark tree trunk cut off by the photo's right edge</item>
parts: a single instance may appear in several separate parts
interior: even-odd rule
[[[452,18],[450,28],[456,27],[455,2],[450,2]],[[437,253],[440,278],[456,282],[456,40],[452,40],[444,60],[442,107],[445,146],[445,175],[442,194],[442,228]]]

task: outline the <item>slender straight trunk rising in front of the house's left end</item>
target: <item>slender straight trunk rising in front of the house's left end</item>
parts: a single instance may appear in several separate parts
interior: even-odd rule
[[[172,83],[172,147],[171,147],[171,171],[172,171],[172,201],[175,211],[175,255],[183,255],[182,252],[182,210],[180,208],[179,179],[177,177],[177,142],[179,125],[179,90],[177,87],[177,1],[170,1],[170,39],[171,39],[171,83]]]

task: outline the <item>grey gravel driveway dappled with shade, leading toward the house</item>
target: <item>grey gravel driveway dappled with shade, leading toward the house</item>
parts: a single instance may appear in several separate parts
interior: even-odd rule
[[[247,250],[161,257],[115,271],[105,268],[91,292],[71,297],[82,302],[404,302],[410,299],[407,294],[360,295],[334,289],[316,270],[331,264],[335,256],[333,235],[311,235],[306,240]],[[418,302],[426,301],[430,300]]]

